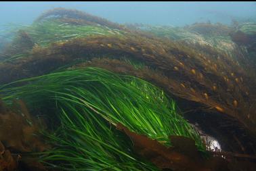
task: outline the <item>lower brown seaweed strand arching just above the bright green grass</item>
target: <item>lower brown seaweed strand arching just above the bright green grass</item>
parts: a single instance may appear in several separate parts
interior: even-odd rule
[[[175,97],[182,97],[183,99],[187,99],[188,101],[195,101],[195,102],[201,103],[202,105],[207,105],[208,107],[205,109],[208,111],[211,111],[211,110],[213,111],[215,109],[218,112],[229,114],[230,116],[235,118],[237,117],[236,112],[239,112],[238,114],[240,114],[241,111],[247,111],[247,113],[250,114],[247,117],[250,118],[252,117],[252,115],[253,117],[255,116],[253,112],[253,106],[254,106],[253,104],[255,103],[253,102],[253,96],[251,96],[251,98],[247,97],[248,98],[247,99],[241,96],[239,92],[237,92],[234,95],[240,98],[239,100],[234,99],[235,97],[234,96],[231,97],[230,95],[230,93],[234,93],[234,92],[225,91],[225,87],[218,87],[216,83],[212,84],[211,87],[209,87],[209,91],[211,92],[211,94],[203,93],[204,91],[202,90],[206,88],[200,86],[200,84],[196,83],[195,81],[193,82],[194,84],[190,84],[188,80],[183,80],[182,78],[177,79],[175,77],[172,78],[171,76],[167,77],[165,76],[165,74],[163,74],[163,72],[152,70],[152,68],[148,68],[147,66],[144,68],[135,69],[133,68],[133,66],[116,59],[94,58],[90,62],[78,64],[77,66],[74,66],[74,67],[87,67],[87,66],[97,66],[100,68],[106,68],[107,70],[112,70],[113,72],[121,72],[124,74],[130,74],[133,76],[137,76],[139,78],[143,78],[144,80],[153,82],[158,87],[161,87],[162,89],[167,90],[169,94],[172,94]],[[186,73],[184,73],[184,75],[185,74]],[[235,91],[238,91],[238,90],[235,89]],[[214,94],[216,93],[217,95],[215,96]],[[224,99],[225,97],[226,99]],[[250,99],[251,105],[249,105],[248,103],[245,103],[245,101],[248,101],[249,99]],[[221,101],[222,102],[227,101],[227,102],[223,104],[221,103]],[[242,108],[238,107],[238,101],[240,101],[239,107],[242,107]],[[250,109],[247,107],[249,107]],[[240,116],[242,116],[242,114],[240,114]],[[248,120],[249,118],[244,118],[243,120]],[[239,118],[237,119],[240,120]]]

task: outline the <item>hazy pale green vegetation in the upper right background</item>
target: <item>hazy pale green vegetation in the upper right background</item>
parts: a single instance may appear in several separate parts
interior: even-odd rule
[[[214,47],[215,50],[228,53],[240,63],[244,60],[255,61],[255,23],[235,22],[231,26],[220,23],[194,23],[190,26],[150,26],[146,24],[127,24],[132,30],[143,30],[145,32],[188,44],[200,44],[200,46]],[[244,48],[246,47],[246,48]],[[239,59],[239,55],[247,55]],[[247,62],[249,62],[247,61]],[[255,62],[253,62],[255,64]],[[253,67],[255,68],[254,64]]]

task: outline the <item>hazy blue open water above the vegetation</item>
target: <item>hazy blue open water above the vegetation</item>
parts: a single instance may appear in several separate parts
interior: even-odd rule
[[[256,2],[0,2],[0,26],[31,24],[47,9],[86,11],[112,22],[184,26],[194,22],[256,20]]]

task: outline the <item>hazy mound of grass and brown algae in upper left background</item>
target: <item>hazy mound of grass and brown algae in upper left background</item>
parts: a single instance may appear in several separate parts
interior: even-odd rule
[[[71,16],[76,16],[78,15],[77,13],[80,12],[68,9],[62,10],[60,9],[62,13],[69,14]],[[110,28],[114,24],[112,24],[112,22],[107,22],[107,20],[105,21],[102,19],[102,21],[98,19],[100,21],[88,22],[87,15],[89,14],[79,16],[79,20],[77,18],[70,19],[68,18],[68,15],[65,15],[64,18],[50,18],[49,16],[59,16],[59,9],[54,11],[56,11],[57,14],[49,11],[49,14],[48,12],[43,14],[43,16],[38,18],[32,25],[18,26],[20,30],[16,37],[14,37],[14,43],[7,45],[3,53],[0,54],[0,59],[2,56],[3,61],[13,62],[15,59],[28,55],[33,47],[45,47],[53,42],[63,42],[68,39],[89,35],[119,35],[124,32],[123,30]],[[62,14],[60,14],[60,16],[62,16]],[[48,19],[45,20],[44,18]],[[86,18],[87,20],[84,20],[83,18]],[[89,18],[92,18],[92,16]],[[104,25],[101,25],[102,22]]]

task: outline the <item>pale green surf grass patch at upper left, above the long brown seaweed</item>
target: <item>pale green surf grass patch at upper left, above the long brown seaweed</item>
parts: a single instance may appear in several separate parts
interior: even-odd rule
[[[38,45],[46,46],[57,41],[86,37],[91,35],[121,35],[121,31],[107,26],[72,25],[56,19],[35,22],[24,30]]]

